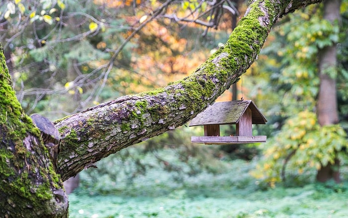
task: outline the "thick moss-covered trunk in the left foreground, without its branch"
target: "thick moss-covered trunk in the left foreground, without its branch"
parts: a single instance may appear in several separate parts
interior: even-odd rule
[[[67,209],[63,183],[16,99],[0,46],[0,217],[67,217]]]

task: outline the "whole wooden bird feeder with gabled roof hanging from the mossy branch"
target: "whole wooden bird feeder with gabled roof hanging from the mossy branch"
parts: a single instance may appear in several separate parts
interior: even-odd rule
[[[244,144],[264,143],[266,136],[253,136],[253,124],[266,124],[267,120],[251,100],[215,102],[198,114],[189,126],[204,126],[204,136],[192,136],[192,143]],[[236,125],[236,136],[220,136],[220,125]]]

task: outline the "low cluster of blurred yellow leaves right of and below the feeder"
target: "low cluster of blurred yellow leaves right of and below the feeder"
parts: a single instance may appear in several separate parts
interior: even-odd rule
[[[334,164],[337,157],[348,161],[348,140],[343,128],[320,127],[316,114],[309,111],[287,119],[281,132],[264,146],[264,155],[252,175],[272,187],[285,180],[285,167],[296,169],[295,175],[300,175],[310,168],[319,170],[329,162]]]

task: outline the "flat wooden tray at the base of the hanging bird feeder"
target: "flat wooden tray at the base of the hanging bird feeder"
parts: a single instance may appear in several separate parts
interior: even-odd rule
[[[266,136],[192,136],[191,143],[202,143],[206,145],[229,145],[245,143],[265,143]]]

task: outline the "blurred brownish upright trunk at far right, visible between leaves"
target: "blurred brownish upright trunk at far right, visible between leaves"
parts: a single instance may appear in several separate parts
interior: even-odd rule
[[[324,19],[333,25],[340,19],[340,0],[324,1]],[[337,71],[336,43],[326,46],[319,51],[319,77],[320,87],[317,102],[317,116],[321,126],[337,124],[339,122],[337,109],[336,78],[329,75],[329,71]],[[330,72],[330,74],[336,74]],[[340,180],[340,161],[335,159],[334,163],[322,166],[317,173],[317,180],[325,182],[334,179]]]

